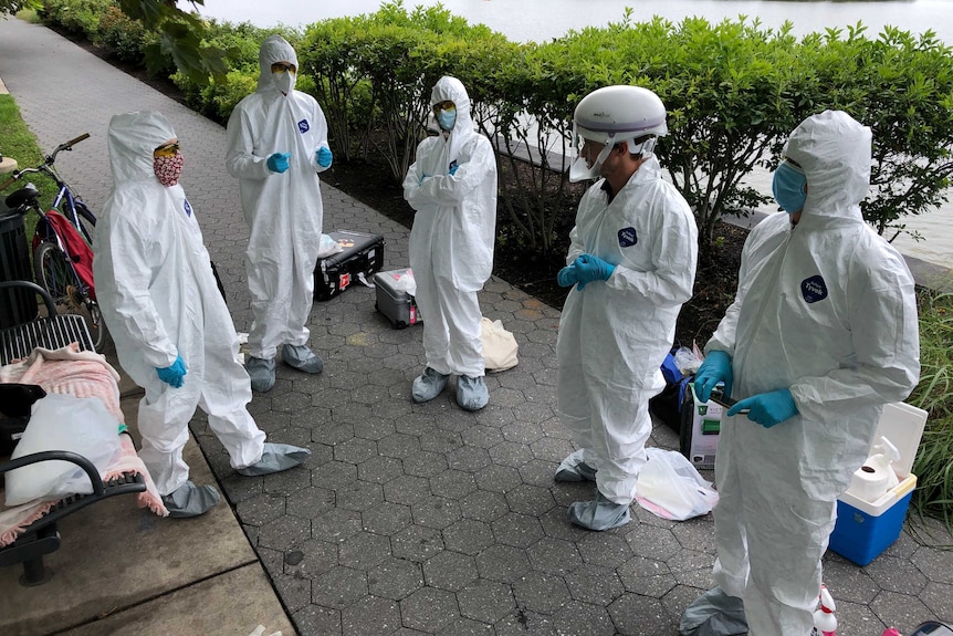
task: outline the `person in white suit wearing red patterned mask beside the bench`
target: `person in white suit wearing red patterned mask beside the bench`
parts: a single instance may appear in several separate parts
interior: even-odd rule
[[[184,157],[169,121],[156,112],[109,122],[113,189],[96,223],[96,298],[119,364],[145,389],[139,457],[171,517],[195,517],[219,501],[189,481],[182,448],[200,406],[241,475],[277,472],[311,451],[265,442],[247,405],[248,374],[219,293],[195,210],[178,185]]]

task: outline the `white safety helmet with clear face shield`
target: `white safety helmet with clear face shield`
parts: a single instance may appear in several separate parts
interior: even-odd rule
[[[573,114],[573,147],[575,159],[569,167],[569,180],[582,181],[599,177],[603,161],[612,147],[628,142],[629,153],[647,155],[656,139],[669,132],[666,126],[666,106],[659,96],[640,86],[605,86],[583,97]],[[650,135],[640,144],[639,139]],[[583,156],[586,139],[605,144],[599,156],[589,166]]]

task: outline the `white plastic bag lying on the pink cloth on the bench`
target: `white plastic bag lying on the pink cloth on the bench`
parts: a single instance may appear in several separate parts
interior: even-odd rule
[[[33,404],[30,423],[11,459],[43,450],[69,450],[92,461],[102,475],[123,452],[118,430],[118,420],[98,397],[51,393]],[[7,505],[90,492],[90,477],[70,461],[40,461],[7,473]]]

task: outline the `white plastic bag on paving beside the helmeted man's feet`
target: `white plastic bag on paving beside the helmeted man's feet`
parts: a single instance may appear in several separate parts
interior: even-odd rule
[[[711,512],[718,503],[718,492],[682,453],[661,448],[647,448],[646,452],[649,459],[636,482],[639,505],[673,521]]]

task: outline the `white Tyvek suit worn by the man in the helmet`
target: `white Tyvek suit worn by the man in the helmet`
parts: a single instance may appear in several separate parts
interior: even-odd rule
[[[590,253],[616,269],[605,282],[569,291],[556,347],[557,395],[599,492],[629,504],[652,430],[649,398],[664,387],[660,367],[692,295],[698,228],[653,155],[611,202],[604,184],[579,201],[566,264]]]

